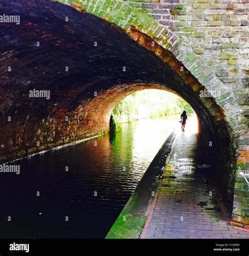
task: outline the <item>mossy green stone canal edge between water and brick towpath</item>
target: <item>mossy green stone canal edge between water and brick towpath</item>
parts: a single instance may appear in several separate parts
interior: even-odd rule
[[[170,159],[176,133],[172,131],[150,163],[136,190],[124,205],[106,239],[139,239],[159,194],[159,181]],[[144,231],[145,232],[145,231]],[[143,234],[144,235],[144,234]]]

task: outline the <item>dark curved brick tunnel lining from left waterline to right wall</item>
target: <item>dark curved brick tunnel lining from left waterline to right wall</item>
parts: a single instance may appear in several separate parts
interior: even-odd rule
[[[0,23],[2,161],[108,132],[120,100],[159,88],[198,115],[201,149],[215,157],[219,188],[232,209],[236,154],[225,114],[213,97],[200,97],[205,87],[170,51],[136,28],[122,31],[64,4],[4,0],[0,8],[20,15],[18,25]]]

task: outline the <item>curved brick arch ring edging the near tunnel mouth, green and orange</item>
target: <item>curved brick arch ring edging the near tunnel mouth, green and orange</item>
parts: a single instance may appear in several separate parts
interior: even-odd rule
[[[58,1],[60,2],[60,0]],[[151,8],[152,11],[153,8],[158,8],[159,5],[161,5],[160,3],[158,4],[159,1],[149,2],[152,2],[152,4],[147,3],[146,7]],[[175,4],[174,1],[170,0],[166,2],[167,4]],[[120,27],[122,31],[124,33],[127,33],[133,40],[137,41],[140,45],[147,48],[149,51],[154,52],[155,55],[159,56],[164,62],[168,63],[175,72],[177,72],[189,85],[191,85],[195,93],[198,93],[201,90],[219,90],[221,92],[222,96],[220,97],[220,99],[205,97],[201,100],[203,104],[207,107],[207,109],[210,109],[214,120],[216,122],[219,121],[223,123],[223,125],[221,125],[222,128],[220,132],[222,133],[224,132],[224,130],[226,130],[224,129],[224,123],[227,128],[227,135],[230,137],[229,140],[231,140],[232,144],[232,149],[230,149],[229,151],[233,151],[233,153],[231,154],[231,166],[232,169],[236,169],[232,174],[232,183],[234,183],[234,177],[236,176],[236,186],[238,188],[243,188],[243,186],[246,186],[246,184],[244,184],[244,181],[243,183],[241,183],[244,178],[241,176],[240,170],[243,170],[245,173],[246,170],[248,170],[247,164],[249,159],[249,134],[246,130],[246,118],[242,114],[242,107],[239,106],[236,102],[236,98],[241,96],[236,96],[232,88],[225,85],[220,80],[220,77],[216,74],[217,72],[215,68],[207,64],[204,58],[196,54],[196,51],[193,51],[189,42],[186,42],[184,38],[179,37],[179,34],[174,33],[174,26],[172,24],[169,24],[169,21],[164,22],[166,23],[166,25],[171,25],[171,29],[169,30],[169,26],[163,26],[155,19],[152,19],[150,15],[147,15],[146,12],[141,11],[141,8],[136,9],[131,6],[129,2],[101,0],[101,4],[99,4],[99,1],[96,1],[94,6],[89,5],[88,0],[66,0],[66,3],[72,4],[72,7],[76,8],[78,11],[90,12]],[[134,5],[134,3],[132,4]],[[207,6],[204,6],[205,4],[195,5],[195,8],[206,8],[207,13],[213,14],[212,10],[209,10]],[[235,15],[244,13],[244,9],[238,9],[238,7],[236,7],[233,3],[220,4],[220,6],[219,4],[214,5],[214,8],[221,8],[223,9],[223,12],[224,9],[227,9],[229,12],[237,8],[234,11]],[[242,5],[244,5],[244,3],[240,4],[240,8]],[[177,5],[173,7],[177,7]],[[162,6],[162,8],[172,8],[172,5]],[[155,11],[159,11],[159,13],[162,13],[160,9],[155,9]],[[173,11],[174,13],[170,13],[179,13],[178,9]],[[117,15],[117,13],[119,15]],[[212,25],[219,23],[219,21],[211,22]],[[242,20],[241,23],[237,25],[243,26],[247,24],[246,22],[246,20]],[[198,23],[198,21],[195,23]],[[227,21],[228,25],[231,24],[233,26],[232,23],[233,21]],[[241,30],[243,31],[243,29]],[[181,71],[180,68],[183,68],[183,71]],[[244,93],[246,94],[246,91]],[[219,127],[219,125],[217,125],[217,127]],[[231,186],[230,190],[230,194],[232,196],[234,192],[233,185]],[[241,191],[240,189],[235,189],[233,220],[241,222],[243,224],[249,224],[249,211],[247,210],[248,201],[246,199],[247,196],[248,193],[246,192],[246,188],[243,191]],[[242,201],[243,204],[241,204]]]

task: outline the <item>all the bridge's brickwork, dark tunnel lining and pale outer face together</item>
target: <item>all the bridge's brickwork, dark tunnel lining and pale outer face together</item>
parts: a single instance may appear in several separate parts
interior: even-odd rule
[[[4,55],[0,70],[5,98],[0,105],[3,127],[0,155],[3,160],[107,131],[109,116],[119,100],[142,88],[160,87],[182,96],[199,115],[200,140],[206,147],[210,141],[216,147],[210,154],[217,155],[220,189],[229,201],[235,191],[233,220],[248,223],[248,190],[243,177],[249,160],[247,3],[58,1],[70,5],[66,6],[48,0],[39,4],[17,2],[21,7],[13,4],[15,11],[22,6],[27,7],[26,13],[40,8],[46,15],[51,14],[53,21],[38,23],[38,18],[26,15],[19,34],[16,27],[2,25],[0,33],[5,36],[13,32],[11,36],[18,34],[19,40],[18,46],[15,43],[9,46],[5,42],[8,37],[2,37]],[[101,22],[86,12],[102,18]],[[70,22],[65,25],[67,15]],[[181,17],[188,21],[179,22]],[[110,23],[113,29],[109,28]],[[35,50],[37,56],[34,52],[18,53],[18,47],[27,47],[25,40],[43,43],[40,52]],[[89,46],[95,41],[102,44],[100,52],[99,48]],[[92,60],[82,62],[88,56]],[[130,65],[128,73],[121,72],[122,62]],[[65,74],[62,70],[67,65],[69,73]],[[13,76],[9,76],[7,66],[15,67]],[[29,78],[22,77],[23,72]],[[37,84],[39,88],[53,89],[53,100],[39,105],[35,100],[29,103],[30,99],[20,97]],[[220,95],[200,97],[205,90]],[[13,123],[7,123],[8,116],[14,118]],[[65,121],[67,116],[69,121]]]

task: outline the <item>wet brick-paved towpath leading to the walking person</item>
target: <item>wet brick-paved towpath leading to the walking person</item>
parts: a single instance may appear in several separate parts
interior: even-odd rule
[[[215,184],[195,170],[195,133],[179,133],[141,238],[249,238],[221,211]]]

